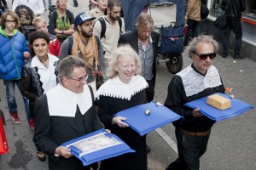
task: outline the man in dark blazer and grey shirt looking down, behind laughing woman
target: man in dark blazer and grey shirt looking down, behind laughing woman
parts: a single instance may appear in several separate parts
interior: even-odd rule
[[[148,102],[154,99],[156,57],[160,38],[159,33],[152,31],[153,26],[154,20],[149,14],[140,14],[136,21],[137,31],[125,33],[119,38],[119,44],[130,44],[141,59],[141,76],[148,82],[148,88],[146,88]],[[148,145],[147,150],[148,153],[151,151]]]

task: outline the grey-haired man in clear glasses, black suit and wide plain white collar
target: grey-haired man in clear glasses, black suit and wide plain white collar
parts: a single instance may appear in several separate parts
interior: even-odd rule
[[[49,156],[49,170],[90,170],[62,143],[103,127],[96,116],[84,59],[69,56],[58,65],[59,84],[36,100],[37,147]]]

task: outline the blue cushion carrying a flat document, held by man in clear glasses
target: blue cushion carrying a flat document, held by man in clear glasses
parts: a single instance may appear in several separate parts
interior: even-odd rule
[[[70,149],[73,156],[79,158],[84,166],[114,156],[135,152],[118,136],[113,133],[107,133],[104,129],[86,134],[61,145]]]

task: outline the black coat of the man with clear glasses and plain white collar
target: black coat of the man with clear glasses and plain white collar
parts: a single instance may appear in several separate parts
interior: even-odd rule
[[[90,93],[92,93],[91,89]],[[47,96],[44,94],[36,100],[34,111],[36,129],[33,141],[38,149],[49,156],[49,170],[88,169],[89,167],[83,167],[82,161],[74,156],[68,159],[55,156],[55,150],[64,142],[79,138],[103,127],[96,116],[95,105],[93,104],[84,115],[77,109],[75,118],[49,116]],[[79,119],[80,123],[76,123],[74,119]]]

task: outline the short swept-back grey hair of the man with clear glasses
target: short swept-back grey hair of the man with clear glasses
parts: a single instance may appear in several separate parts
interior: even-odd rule
[[[73,77],[73,70],[78,67],[86,67],[84,59],[80,59],[79,57],[73,55],[68,55],[66,58],[61,59],[58,65],[59,82],[63,84],[62,77]]]

